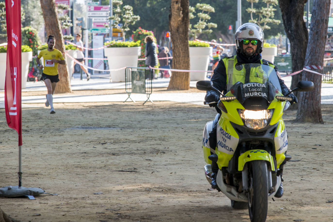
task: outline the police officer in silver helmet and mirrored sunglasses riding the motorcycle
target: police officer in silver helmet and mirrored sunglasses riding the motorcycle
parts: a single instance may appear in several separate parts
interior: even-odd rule
[[[211,77],[211,82],[213,82],[213,86],[217,88],[220,92],[225,92],[225,88],[227,85],[227,71],[231,67],[236,67],[242,64],[248,64],[248,63],[258,63],[258,64],[265,64],[275,69],[276,74],[279,79],[279,83],[281,85],[282,94],[285,96],[287,95],[290,90],[288,87],[284,84],[284,81],[281,79],[281,76],[278,72],[278,69],[275,64],[273,64],[270,61],[264,60],[261,58],[260,53],[262,52],[262,47],[264,43],[264,33],[262,29],[256,25],[255,23],[244,23],[241,25],[235,34],[235,42],[236,42],[236,55],[224,57],[219,60],[216,69],[214,70],[214,73]],[[210,102],[218,102],[219,101],[220,94],[214,90],[207,91],[207,94],[205,96],[206,103]],[[292,98],[292,101],[290,101],[290,104],[297,103],[297,98],[291,93],[288,95],[288,97]],[[209,104],[210,107],[215,107],[216,111],[218,113],[221,113],[221,111],[216,107],[216,103]],[[216,147],[216,128],[217,125],[213,128],[213,130],[209,133],[209,144],[210,147],[215,150]],[[211,164],[212,168],[212,182],[211,187],[213,189],[218,189],[217,183],[216,183],[216,175],[218,171],[217,163],[212,161]],[[277,190],[275,197],[282,197],[283,195],[283,186],[282,182]]]

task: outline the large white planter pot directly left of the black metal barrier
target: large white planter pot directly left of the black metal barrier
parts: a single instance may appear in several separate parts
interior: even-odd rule
[[[108,58],[109,69],[123,67],[138,67],[141,47],[111,47],[104,48],[104,55]],[[112,82],[125,82],[125,69],[111,71]]]

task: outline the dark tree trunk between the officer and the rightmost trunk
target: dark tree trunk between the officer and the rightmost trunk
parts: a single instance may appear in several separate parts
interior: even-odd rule
[[[290,41],[292,72],[302,70],[304,67],[306,47],[308,44],[308,31],[303,20],[304,4],[307,0],[279,0],[284,30]],[[302,78],[302,72],[292,76],[290,89],[295,89]],[[296,97],[299,92],[294,93]],[[297,104],[291,106],[297,109]]]

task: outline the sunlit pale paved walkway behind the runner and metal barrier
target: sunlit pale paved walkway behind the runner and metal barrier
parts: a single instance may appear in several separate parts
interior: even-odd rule
[[[80,74],[74,74],[74,79],[71,80],[72,90],[102,90],[102,89],[124,89],[124,93],[111,94],[111,95],[92,95],[92,96],[72,96],[72,95],[53,95],[53,103],[85,103],[85,102],[124,102],[128,95],[125,91],[125,83],[110,83],[108,74],[92,75],[92,78],[87,81],[84,76],[80,80]],[[282,79],[289,87],[291,84],[291,77]],[[170,79],[157,79],[153,80],[153,88],[166,88],[169,85]],[[197,81],[191,81],[190,87],[194,87]],[[31,91],[46,91],[44,82],[27,82],[26,89],[22,92]],[[0,91],[0,108],[4,108],[4,91]],[[202,105],[204,101],[205,92],[202,93],[156,93],[151,94],[150,99],[154,101],[174,101],[178,103],[190,103],[195,105]],[[146,94],[131,94],[134,101],[146,101]],[[45,103],[45,96],[24,96],[22,97],[22,108],[27,108],[25,104]],[[132,102],[130,99],[127,102]],[[149,101],[147,103],[150,103]],[[321,104],[333,104],[333,84],[322,84],[321,91]],[[31,107],[31,106],[29,106]]]

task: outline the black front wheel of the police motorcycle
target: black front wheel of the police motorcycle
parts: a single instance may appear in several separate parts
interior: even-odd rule
[[[265,222],[268,209],[268,174],[264,160],[249,163],[248,209],[251,222]]]

